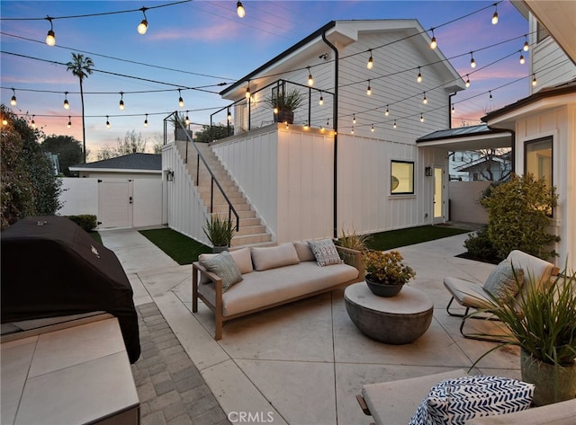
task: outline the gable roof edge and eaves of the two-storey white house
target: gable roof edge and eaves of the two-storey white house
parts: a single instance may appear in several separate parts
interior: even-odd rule
[[[406,40],[411,37],[421,39],[422,46],[428,48],[430,44],[430,37],[428,31],[425,31],[417,19],[374,19],[374,20],[344,20],[344,21],[331,21],[320,29],[312,32],[306,38],[300,40],[292,47],[284,50],[284,52],[277,55],[275,58],[270,59],[264,65],[258,66],[254,71],[239,78],[234,84],[230,84],[227,88],[220,92],[223,98],[233,98],[235,93],[242,97],[246,90],[247,84],[250,80],[262,79],[264,75],[274,74],[274,77],[269,77],[269,80],[276,79],[278,74],[285,73],[293,70],[294,67],[302,66],[300,56],[310,54],[311,51],[321,50],[329,51],[329,46],[322,40],[325,35],[327,40],[338,45],[347,45],[358,39],[358,34],[363,31],[370,31],[371,33],[378,31],[397,31],[401,34],[400,40]],[[314,56],[315,58],[316,56]],[[454,66],[447,60],[440,49],[422,49],[422,57],[430,64],[435,64],[441,72],[450,75],[453,83],[446,87],[453,91],[464,90],[464,80],[456,72]],[[262,84],[266,85],[266,84]]]

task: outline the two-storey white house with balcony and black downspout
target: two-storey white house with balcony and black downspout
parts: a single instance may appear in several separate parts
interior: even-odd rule
[[[464,81],[429,44],[417,20],[329,22],[220,93],[233,103],[214,118],[233,112],[237,134],[211,148],[276,242],[447,219],[446,154],[416,139],[449,126]],[[275,123],[266,98],[294,88],[304,99],[293,124]],[[164,168],[175,168],[177,157],[164,153]],[[170,226],[198,217],[184,208]],[[205,240],[196,228],[190,235]]]

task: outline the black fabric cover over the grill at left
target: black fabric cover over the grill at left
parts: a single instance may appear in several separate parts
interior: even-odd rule
[[[132,288],[114,252],[66,217],[26,217],[2,239],[2,323],[105,311],[140,355]]]

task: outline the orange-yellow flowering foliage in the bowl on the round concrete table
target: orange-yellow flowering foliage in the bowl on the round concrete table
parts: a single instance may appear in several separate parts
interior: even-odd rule
[[[416,272],[402,263],[398,251],[368,251],[364,254],[366,279],[383,285],[404,285]]]

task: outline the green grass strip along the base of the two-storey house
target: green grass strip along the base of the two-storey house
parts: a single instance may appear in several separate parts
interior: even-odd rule
[[[446,226],[418,226],[390,230],[371,235],[368,248],[379,251],[392,250],[401,246],[442,239],[443,237],[470,233],[471,230]]]

